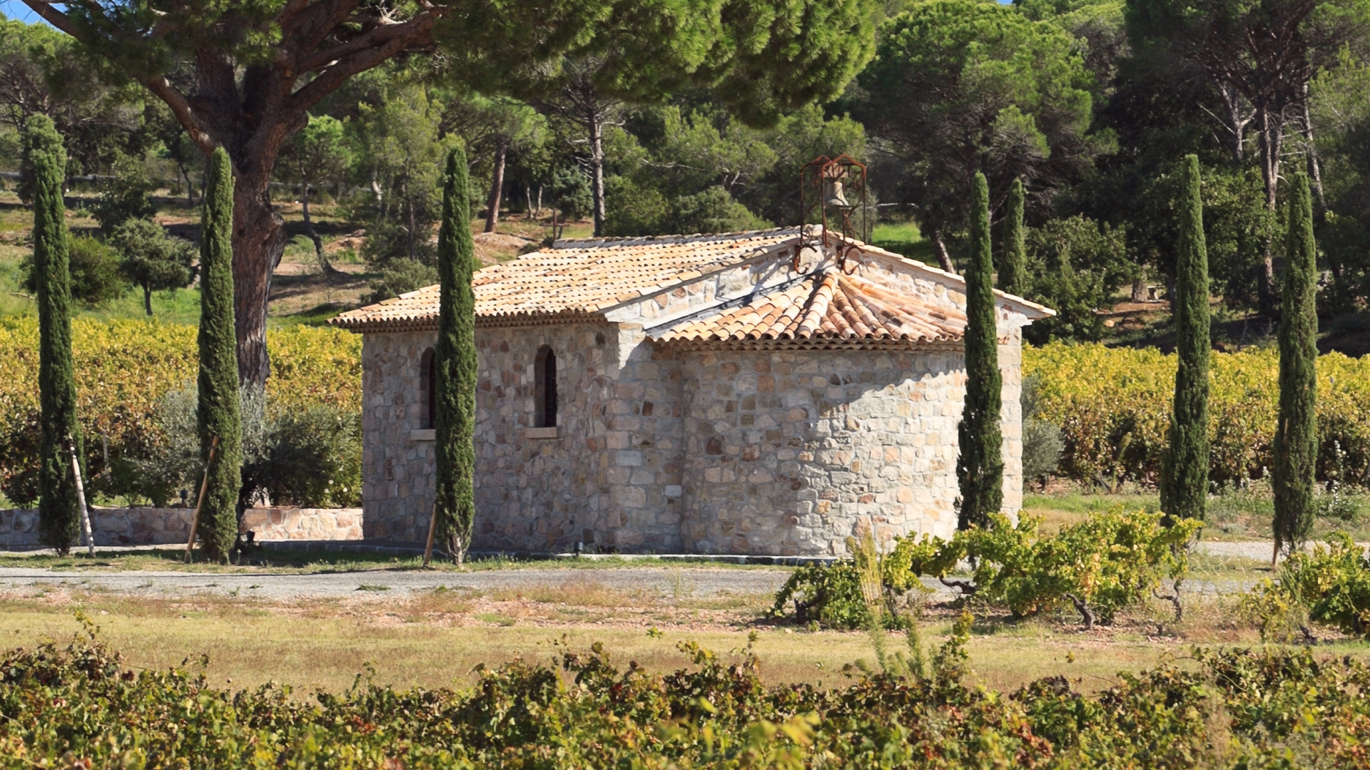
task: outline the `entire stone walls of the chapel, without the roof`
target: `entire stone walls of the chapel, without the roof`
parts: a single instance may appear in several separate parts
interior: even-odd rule
[[[363,344],[367,537],[422,541],[436,333]],[[532,438],[533,362],[558,356],[559,433]],[[959,352],[671,352],[632,323],[477,329],[475,548],[825,555],[955,527]],[[1004,510],[1022,503],[1021,337],[1000,345]]]

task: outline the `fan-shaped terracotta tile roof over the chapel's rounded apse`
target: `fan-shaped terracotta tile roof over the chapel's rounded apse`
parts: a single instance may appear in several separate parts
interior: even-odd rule
[[[837,270],[725,310],[677,325],[663,343],[756,340],[906,340],[952,343],[966,332],[966,315],[933,307],[912,295],[889,290]]]

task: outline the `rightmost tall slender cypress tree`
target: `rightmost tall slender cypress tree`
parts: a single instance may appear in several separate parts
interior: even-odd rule
[[[1280,422],[1275,425],[1275,558],[1312,529],[1318,462],[1318,255],[1308,177],[1289,189],[1284,296],[1280,306]]]

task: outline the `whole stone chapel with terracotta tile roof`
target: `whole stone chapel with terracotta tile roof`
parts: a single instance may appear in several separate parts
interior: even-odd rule
[[[475,549],[814,555],[949,536],[964,281],[821,227],[559,240],[475,274]],[[438,288],[363,334],[363,527],[433,507]],[[1022,327],[996,292],[1004,510],[1022,503]]]

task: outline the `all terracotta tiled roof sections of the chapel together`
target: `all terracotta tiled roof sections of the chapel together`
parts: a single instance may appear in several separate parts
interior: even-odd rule
[[[808,226],[806,233],[799,227],[778,227],[725,234],[560,240],[552,248],[477,271],[473,280],[475,321],[478,326],[604,321],[615,308],[674,290],[707,274],[766,259],[788,259],[803,236],[812,243],[815,232],[815,226]],[[858,248],[873,259],[937,282],[964,286],[960,275],[877,247],[858,244]],[[669,329],[652,329],[649,334],[660,341],[696,345],[770,340],[841,347],[859,340],[959,344],[964,329],[964,314],[856,275],[840,274],[832,264],[819,266],[782,289],[771,286],[756,295],[759,299],[722,303],[682,318]],[[1003,310],[1022,314],[1026,321],[1054,315],[1049,308],[1022,297],[997,290],[995,295]],[[438,296],[438,286],[425,286],[344,312],[329,323],[362,333],[430,330],[437,327]]]

